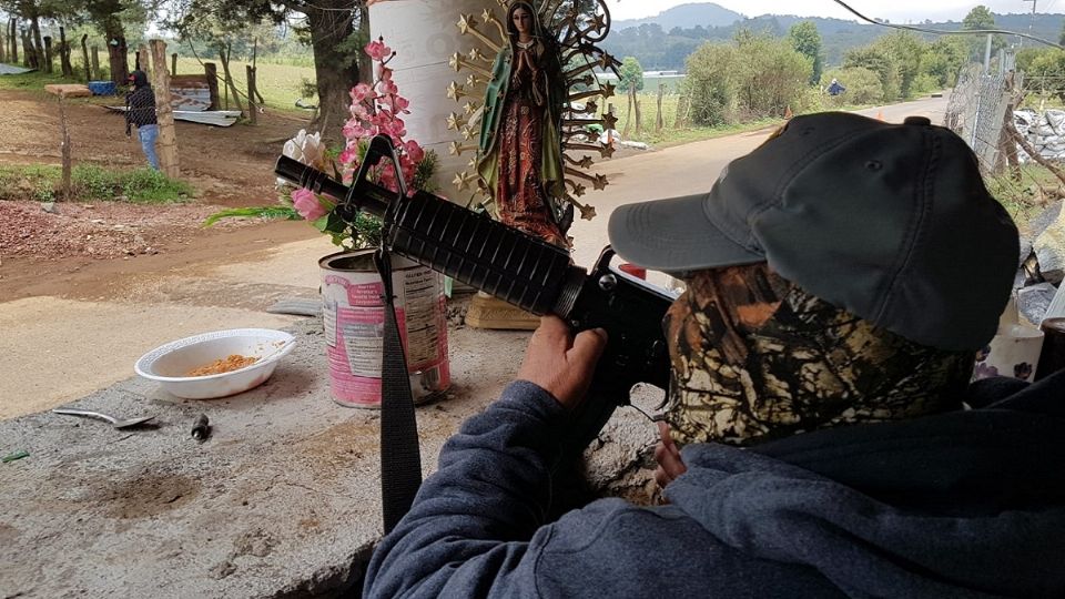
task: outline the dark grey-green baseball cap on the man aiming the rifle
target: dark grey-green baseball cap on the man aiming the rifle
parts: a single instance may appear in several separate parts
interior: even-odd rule
[[[822,300],[943,349],[983,347],[1020,242],[965,142],[929,119],[797,116],[704,194],[620,206],[610,242],[665,272],[768,262]]]

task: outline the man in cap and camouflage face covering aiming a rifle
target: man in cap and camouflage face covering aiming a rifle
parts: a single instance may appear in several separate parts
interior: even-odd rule
[[[961,139],[795,118],[709,193],[622,206],[610,237],[688,281],[663,323],[669,505],[546,521],[609,339],[545,317],[367,596],[1065,596],[1065,375],[967,386],[1018,241]]]

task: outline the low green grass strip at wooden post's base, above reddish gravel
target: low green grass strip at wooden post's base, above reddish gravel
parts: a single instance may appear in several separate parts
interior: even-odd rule
[[[79,202],[130,202],[168,204],[185,202],[191,185],[168,179],[152,169],[110,171],[80,164],[71,171],[72,200]],[[0,165],[0,200],[53,202],[62,194],[62,169],[52,165]]]

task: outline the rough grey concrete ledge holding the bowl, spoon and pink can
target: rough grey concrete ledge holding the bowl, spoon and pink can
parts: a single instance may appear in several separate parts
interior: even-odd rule
[[[0,453],[30,454],[0,465],[0,595],[316,596],[359,579],[381,535],[378,415],[329,399],[317,319],[290,331],[297,347],[245,394],[183,400],[131,378],[71,404],[153,415],[155,428],[0,422]],[[449,335],[454,387],[418,409],[426,475],[513,378],[529,336]],[[190,436],[200,413],[203,444]]]

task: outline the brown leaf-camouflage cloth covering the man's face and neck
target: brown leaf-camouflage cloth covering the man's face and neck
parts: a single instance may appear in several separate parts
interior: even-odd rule
[[[696,273],[663,327],[678,443],[751,445],[955,409],[974,358],[873,326],[765,263]]]

